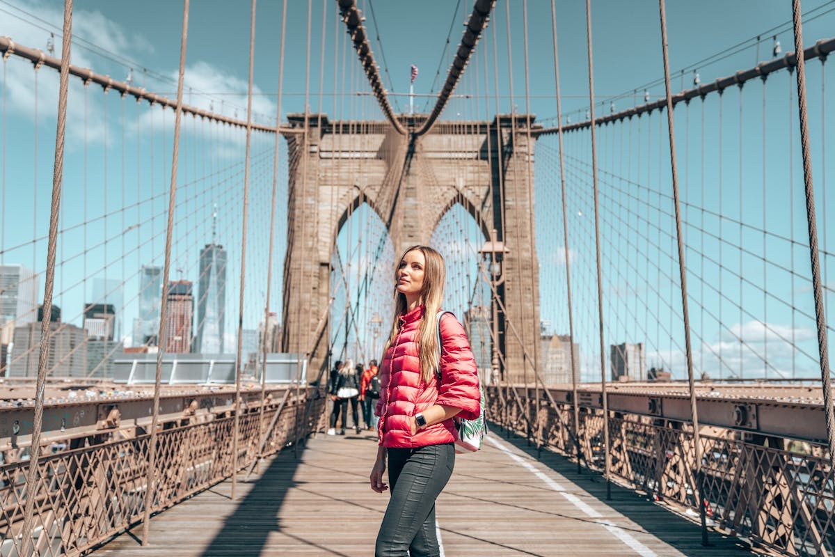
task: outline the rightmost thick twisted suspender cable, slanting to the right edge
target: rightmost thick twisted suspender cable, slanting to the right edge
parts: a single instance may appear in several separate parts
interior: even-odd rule
[[[821,362],[823,405],[827,417],[829,459],[835,462],[835,416],[832,408],[832,386],[829,381],[829,348],[827,347],[827,321],[823,311],[821,262],[817,251],[817,219],[815,216],[815,190],[812,187],[812,149],[809,147],[809,121],[806,108],[806,67],[803,60],[803,28],[800,0],[792,0],[794,21],[794,52],[797,58],[797,109],[800,113],[800,143],[803,154],[803,184],[806,190],[806,218],[809,227],[809,256],[812,258],[812,288],[815,295],[817,317],[817,349]]]

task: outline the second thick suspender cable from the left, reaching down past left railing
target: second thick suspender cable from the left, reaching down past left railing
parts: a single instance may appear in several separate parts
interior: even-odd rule
[[[183,115],[183,75],[185,73],[185,45],[189,33],[189,0],[183,0],[183,29],[180,37],[180,74],[177,78],[177,106],[174,121],[174,154],[171,159],[171,185],[168,194],[168,228],[165,230],[165,263],[162,279],[162,301],[159,305],[159,335],[157,336],[156,378],[154,380],[154,413],[151,416],[148,440],[148,479],[145,483],[145,509],[142,522],[142,544],[148,544],[151,506],[154,504],[154,467],[156,466],[157,422],[159,421],[159,381],[162,376],[162,357],[165,352],[165,322],[168,317],[168,279],[171,270],[171,235],[174,233],[174,209],[177,194],[177,159],[180,154],[180,119]]]

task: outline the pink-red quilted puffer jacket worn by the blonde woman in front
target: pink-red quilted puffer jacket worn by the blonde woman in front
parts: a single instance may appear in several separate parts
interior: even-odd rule
[[[453,443],[457,432],[452,418],[412,435],[411,417],[433,404],[461,408],[458,416],[465,419],[478,418],[481,413],[475,358],[464,328],[452,315],[441,318],[441,379],[433,373],[428,383],[423,382],[417,350],[422,316],[423,306],[400,316],[400,332],[382,360],[375,414],[380,417],[377,435],[383,447]],[[429,318],[434,321],[434,316]]]

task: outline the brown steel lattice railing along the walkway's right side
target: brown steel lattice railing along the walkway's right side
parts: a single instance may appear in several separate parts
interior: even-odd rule
[[[532,388],[524,409],[503,405],[512,395],[509,388],[488,387],[492,422],[523,435],[533,423],[537,445],[567,458],[575,458],[576,441],[583,464],[603,470],[604,413],[596,403],[581,402],[574,423],[570,403],[549,404],[543,396],[538,405]],[[608,421],[613,479],[650,499],[698,508],[690,423],[622,412],[610,412]],[[703,504],[716,529],[782,554],[833,553],[835,475],[825,448],[718,427],[701,428],[700,443]]]

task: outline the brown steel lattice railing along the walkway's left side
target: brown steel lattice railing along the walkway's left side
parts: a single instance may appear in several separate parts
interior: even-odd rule
[[[324,410],[326,398],[320,394],[317,387],[288,387],[286,396],[268,401],[263,412],[260,405],[245,408],[237,454],[232,452],[235,417],[229,409],[160,419],[151,513],[305,438]],[[197,419],[207,421],[195,423]],[[145,511],[149,439],[149,432],[135,427],[74,438],[68,450],[39,459],[34,488],[25,484],[28,461],[0,466],[0,553],[19,555],[23,550],[23,513],[30,496],[35,498],[28,545],[35,549],[30,554],[81,554],[139,524]]]

